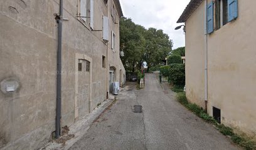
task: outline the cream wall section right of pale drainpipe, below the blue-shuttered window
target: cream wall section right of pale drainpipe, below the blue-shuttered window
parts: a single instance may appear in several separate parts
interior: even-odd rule
[[[220,108],[222,123],[250,134],[256,134],[255,5],[238,1],[238,18],[208,36],[209,109]]]

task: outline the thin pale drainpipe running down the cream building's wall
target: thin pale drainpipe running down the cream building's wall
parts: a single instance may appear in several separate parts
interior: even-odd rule
[[[208,39],[207,39],[207,0],[205,0],[205,111],[208,104]]]

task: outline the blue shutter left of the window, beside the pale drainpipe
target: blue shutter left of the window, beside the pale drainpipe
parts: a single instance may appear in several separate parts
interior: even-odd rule
[[[213,1],[211,1],[207,6],[207,34],[210,34],[213,32],[213,20],[214,20],[214,4]]]

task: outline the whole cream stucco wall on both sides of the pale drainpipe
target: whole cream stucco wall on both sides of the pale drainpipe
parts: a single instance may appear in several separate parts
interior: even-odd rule
[[[221,109],[221,123],[250,136],[256,134],[255,4],[238,1],[238,18],[207,36],[208,113],[213,115],[213,106]],[[200,106],[204,95],[203,14],[201,4],[186,21],[186,95]]]

